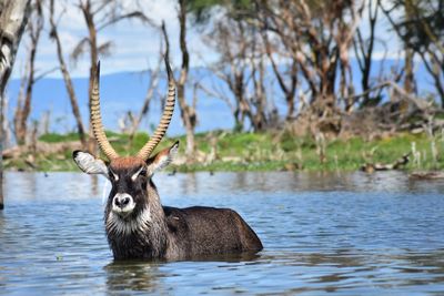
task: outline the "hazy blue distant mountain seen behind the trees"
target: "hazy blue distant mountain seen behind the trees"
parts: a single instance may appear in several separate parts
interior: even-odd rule
[[[391,69],[398,64],[397,61],[386,60],[384,63],[374,62],[372,70],[373,76],[377,75],[383,69],[385,73],[390,73]],[[424,67],[416,67],[416,79],[420,92],[433,91],[432,79],[427,75]],[[361,75],[357,63],[352,63],[353,80],[356,92],[360,91]],[[271,70],[269,76],[273,78]],[[222,92],[226,92],[223,82],[215,78],[208,69],[199,68],[191,70],[191,76],[196,78],[200,83],[208,88],[216,85]],[[118,121],[128,111],[139,113],[143,103],[144,95],[150,79],[149,73],[121,72],[101,76],[101,106],[102,116],[105,129],[119,130]],[[84,123],[88,123],[88,79],[73,79],[75,93],[78,95],[79,105]],[[285,113],[285,104],[278,89],[276,83],[273,84],[274,91],[269,96],[274,98],[274,104],[281,114]],[[165,76],[162,76],[159,85],[159,95],[164,95],[167,91]],[[9,119],[12,118],[17,96],[20,89],[20,80],[11,80],[8,86]],[[157,125],[160,119],[160,100],[157,95],[150,106],[147,119],[142,122],[141,130],[152,131],[152,126]],[[192,86],[188,88],[188,100],[192,101]],[[214,129],[232,129],[234,121],[231,110],[221,100],[208,98],[202,92],[198,96],[198,116],[199,125],[196,131],[203,132]],[[67,132],[74,130],[74,120],[71,112],[71,105],[64,88],[62,79],[41,79],[36,83],[32,101],[31,120],[40,120],[47,111],[51,112],[51,130],[56,132]],[[179,109],[174,112],[173,120],[169,130],[170,135],[183,134],[184,129],[180,119]]]

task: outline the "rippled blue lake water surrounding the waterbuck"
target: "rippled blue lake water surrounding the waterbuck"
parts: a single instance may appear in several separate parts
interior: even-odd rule
[[[0,294],[444,294],[443,181],[395,172],[160,174],[154,181],[167,205],[234,208],[264,251],[114,263],[103,228],[103,178],[8,173]]]

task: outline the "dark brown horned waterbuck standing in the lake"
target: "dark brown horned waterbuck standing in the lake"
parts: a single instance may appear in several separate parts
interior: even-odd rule
[[[175,83],[168,59],[168,96],[160,123],[135,156],[120,156],[111,146],[100,113],[100,63],[90,93],[90,122],[95,141],[108,161],[82,151],[73,160],[87,174],[111,182],[104,210],[108,243],[114,259],[178,261],[206,255],[255,254],[262,243],[233,210],[162,206],[153,175],[171,163],[179,141],[151,156],[164,136],[175,103]]]

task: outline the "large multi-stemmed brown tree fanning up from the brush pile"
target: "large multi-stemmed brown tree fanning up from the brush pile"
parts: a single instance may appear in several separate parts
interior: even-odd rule
[[[285,49],[311,90],[311,108],[317,116],[329,116],[337,108],[337,67],[342,63],[342,95],[352,82],[347,50],[357,28],[362,6],[357,1],[261,1],[259,25],[268,38]]]

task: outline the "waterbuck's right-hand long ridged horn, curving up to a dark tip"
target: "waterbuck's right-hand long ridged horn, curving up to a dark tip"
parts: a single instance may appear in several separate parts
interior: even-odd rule
[[[162,118],[160,119],[160,123],[154,134],[150,137],[150,141],[148,141],[147,144],[138,153],[138,157],[142,160],[148,160],[148,157],[150,157],[155,146],[162,140],[163,135],[168,130],[168,125],[170,125],[171,118],[174,112],[175,82],[167,55],[165,55],[165,67],[168,73],[168,96],[167,96],[165,108],[163,109]]]

